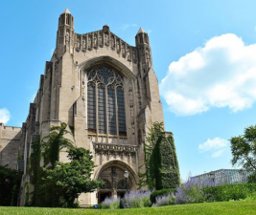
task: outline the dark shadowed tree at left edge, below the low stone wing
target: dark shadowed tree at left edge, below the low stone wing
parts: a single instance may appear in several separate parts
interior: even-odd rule
[[[0,165],[0,205],[15,206],[22,172]]]

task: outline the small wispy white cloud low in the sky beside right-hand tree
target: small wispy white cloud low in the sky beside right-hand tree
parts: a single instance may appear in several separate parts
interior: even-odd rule
[[[228,140],[224,140],[221,138],[215,138],[212,140],[208,139],[202,144],[198,145],[198,150],[200,153],[209,151],[212,153],[211,158],[218,158],[223,154],[227,145]]]

